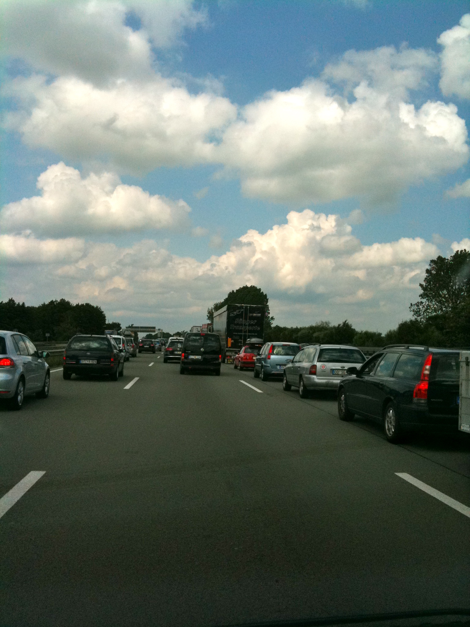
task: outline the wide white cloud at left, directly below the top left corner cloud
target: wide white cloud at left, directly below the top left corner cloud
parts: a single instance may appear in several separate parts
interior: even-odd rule
[[[52,83],[41,76],[18,77],[4,93],[21,104],[5,125],[18,130],[26,144],[70,159],[102,158],[134,174],[211,161],[213,136],[236,117],[227,98],[191,95],[159,75],[108,87],[75,77]]]

